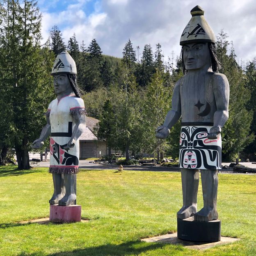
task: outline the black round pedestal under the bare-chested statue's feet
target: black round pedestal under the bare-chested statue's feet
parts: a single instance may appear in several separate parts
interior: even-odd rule
[[[209,222],[195,221],[194,217],[177,219],[178,238],[195,242],[220,241],[221,221],[219,219]]]

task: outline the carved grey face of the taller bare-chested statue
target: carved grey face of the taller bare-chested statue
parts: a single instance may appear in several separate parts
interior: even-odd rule
[[[210,51],[207,43],[187,43],[183,46],[185,69],[207,69],[211,66]]]

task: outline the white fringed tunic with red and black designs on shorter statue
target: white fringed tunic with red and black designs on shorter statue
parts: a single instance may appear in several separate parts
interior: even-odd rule
[[[72,110],[84,109],[82,98],[69,95],[53,100],[49,107],[50,112],[50,173],[70,174],[78,173],[79,164],[79,139],[72,149],[65,150],[64,146],[69,142],[75,126]]]

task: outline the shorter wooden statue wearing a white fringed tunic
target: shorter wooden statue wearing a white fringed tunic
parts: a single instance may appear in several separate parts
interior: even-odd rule
[[[76,174],[79,164],[79,137],[86,126],[85,104],[76,84],[76,65],[67,51],[57,55],[52,73],[57,98],[46,112],[47,124],[35,149],[50,135],[50,168],[53,174],[53,197],[50,204],[67,206],[76,200]]]

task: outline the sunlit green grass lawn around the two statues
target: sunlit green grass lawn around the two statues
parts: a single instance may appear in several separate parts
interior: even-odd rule
[[[85,170],[78,174],[82,218],[73,224],[21,224],[49,217],[53,192],[47,168],[0,167],[0,255],[256,255],[256,175],[219,174],[222,235],[239,242],[204,251],[140,242],[177,230],[179,172]],[[198,208],[202,207],[201,184]]]

